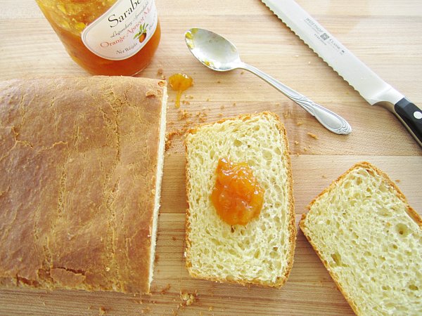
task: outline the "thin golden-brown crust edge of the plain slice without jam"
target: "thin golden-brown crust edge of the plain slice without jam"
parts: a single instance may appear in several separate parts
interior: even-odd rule
[[[321,193],[319,193],[319,195],[317,195],[312,200],[312,202],[309,203],[309,205],[307,206],[307,210],[309,211],[311,209],[312,205],[316,202],[317,199],[319,199],[319,197],[321,197],[325,193],[330,192],[331,190],[333,190],[333,188],[336,185],[338,185],[338,183],[340,183],[340,181],[343,180],[343,178],[345,178],[350,172],[352,172],[354,169],[357,169],[357,168],[364,168],[364,169],[366,169],[367,171],[369,171],[371,173],[377,173],[378,176],[381,176],[383,178],[383,180],[386,183],[388,183],[388,185],[390,185],[395,190],[395,193],[396,193],[397,197],[399,197],[399,199],[401,199],[402,202],[404,202],[404,204],[407,207],[407,213],[409,214],[409,216],[411,218],[413,218],[415,220],[415,222],[420,227],[422,227],[421,216],[419,216],[418,213],[414,209],[412,209],[411,206],[409,206],[409,204],[407,203],[406,197],[404,196],[404,194],[402,193],[402,191],[399,190],[399,187],[397,187],[397,185],[394,182],[392,182],[392,180],[387,175],[387,173],[381,171],[380,169],[378,169],[376,166],[373,166],[373,164],[371,164],[369,162],[358,162],[357,164],[354,164],[352,167],[350,167],[350,169],[348,169],[347,171],[345,171],[345,173],[343,173],[342,175],[340,175],[328,187],[326,187]],[[300,222],[299,222],[300,230],[302,230],[302,232],[305,235],[305,237],[307,238],[309,244],[311,244],[312,248],[314,249],[314,251],[316,252],[316,254],[319,256],[319,259],[324,264],[324,267],[326,268],[326,270],[328,270],[328,273],[331,275],[331,278],[335,282],[335,285],[338,287],[339,291],[345,297],[347,303],[349,303],[349,305],[352,308],[352,310],[354,311],[354,313],[357,314],[357,315],[359,315],[359,310],[357,308],[356,303],[354,303],[354,301],[349,296],[349,294],[347,294],[347,291],[345,291],[345,289],[343,289],[343,287],[340,284],[338,278],[331,271],[331,268],[329,267],[328,263],[326,261],[324,261],[324,259],[323,259],[322,255],[321,255],[320,251],[316,247],[316,244],[314,244],[314,242],[312,241],[312,238],[309,235],[307,235],[307,231],[306,231],[307,230],[307,227],[306,227],[306,224],[305,224],[306,217],[307,217],[307,214],[306,213],[303,213],[302,214],[302,218],[300,219]]]

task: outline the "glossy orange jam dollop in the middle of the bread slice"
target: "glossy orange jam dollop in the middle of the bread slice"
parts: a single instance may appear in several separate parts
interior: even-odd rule
[[[260,215],[264,189],[245,162],[219,159],[217,179],[211,193],[217,213],[229,225],[246,225]]]

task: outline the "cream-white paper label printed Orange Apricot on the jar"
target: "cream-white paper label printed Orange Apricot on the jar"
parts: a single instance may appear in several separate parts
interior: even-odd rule
[[[158,25],[154,0],[118,0],[81,34],[92,53],[109,60],[124,60],[138,53]]]

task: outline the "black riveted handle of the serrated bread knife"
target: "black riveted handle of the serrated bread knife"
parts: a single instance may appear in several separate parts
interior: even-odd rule
[[[407,98],[402,98],[394,105],[395,114],[422,146],[422,110]]]

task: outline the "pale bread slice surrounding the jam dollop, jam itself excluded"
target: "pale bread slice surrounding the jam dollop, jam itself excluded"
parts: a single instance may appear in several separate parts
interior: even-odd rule
[[[192,277],[281,287],[293,265],[295,213],[286,130],[263,112],[201,126],[186,136],[186,267]],[[260,216],[225,223],[210,201],[220,158],[247,162],[261,187]]]

